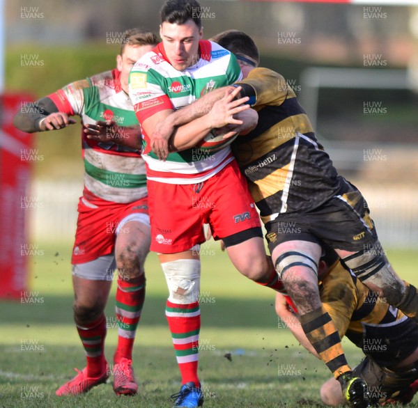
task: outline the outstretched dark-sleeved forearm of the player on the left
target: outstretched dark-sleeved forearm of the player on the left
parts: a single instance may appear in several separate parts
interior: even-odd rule
[[[42,132],[45,129],[40,127],[40,122],[50,113],[58,112],[54,102],[49,97],[44,97],[29,106],[22,107],[13,118],[13,125],[23,132]]]

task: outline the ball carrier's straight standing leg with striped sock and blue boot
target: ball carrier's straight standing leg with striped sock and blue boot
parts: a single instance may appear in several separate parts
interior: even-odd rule
[[[180,392],[172,395],[178,407],[200,407],[203,392],[197,367],[201,327],[199,291],[201,265],[196,251],[161,254],[160,262],[169,288],[166,317],[182,377]]]

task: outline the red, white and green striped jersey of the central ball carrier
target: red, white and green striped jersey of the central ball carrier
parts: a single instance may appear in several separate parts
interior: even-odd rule
[[[130,98],[139,123],[165,109],[180,109],[212,89],[241,79],[235,56],[215,42],[199,42],[200,58],[184,71],[169,63],[162,42],[137,61],[130,72]],[[193,184],[207,180],[233,160],[231,148],[206,152],[191,148],[170,153],[165,162],[150,150],[149,138],[142,132],[142,155],[149,180],[171,184]]]

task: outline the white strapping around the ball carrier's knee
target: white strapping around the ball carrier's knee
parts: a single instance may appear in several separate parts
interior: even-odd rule
[[[172,260],[162,263],[161,267],[169,288],[169,301],[178,304],[190,304],[199,300],[200,260]]]

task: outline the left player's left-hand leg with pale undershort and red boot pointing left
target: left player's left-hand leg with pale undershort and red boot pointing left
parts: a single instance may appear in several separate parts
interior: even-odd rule
[[[86,393],[93,386],[106,382],[109,368],[104,356],[106,337],[106,306],[111,280],[107,272],[114,267],[113,256],[103,256],[91,262],[74,265],[74,318],[86,354],[87,365],[69,382],[63,384],[56,395]]]

